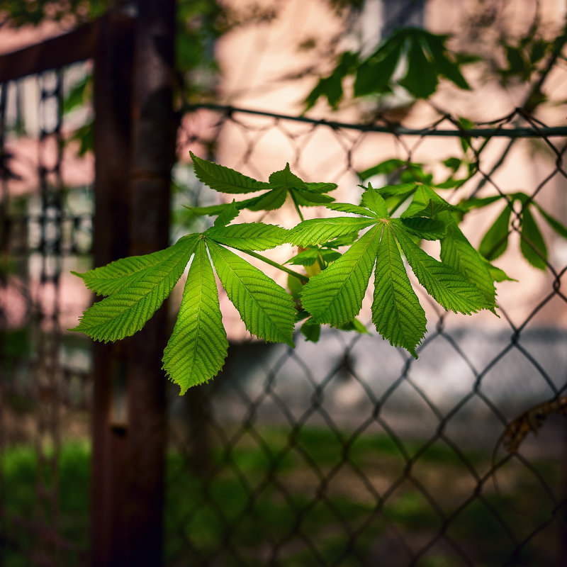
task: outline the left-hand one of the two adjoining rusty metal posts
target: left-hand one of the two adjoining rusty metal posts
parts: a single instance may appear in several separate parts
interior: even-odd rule
[[[94,71],[94,264],[128,256],[128,163],[131,136],[133,21],[109,13],[100,21]],[[127,491],[123,344],[94,345],[91,565],[125,566]]]

